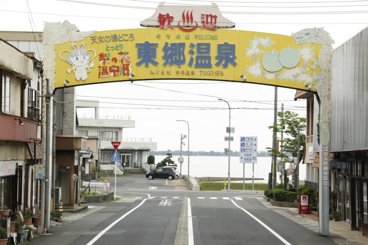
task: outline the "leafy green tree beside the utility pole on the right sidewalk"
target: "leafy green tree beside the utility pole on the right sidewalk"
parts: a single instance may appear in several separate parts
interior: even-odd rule
[[[277,139],[280,141],[280,147],[283,145],[283,153],[277,151],[277,149],[272,149],[268,147],[268,151],[271,156],[276,155],[277,157],[282,157],[285,162],[293,162],[293,159],[285,153],[289,153],[294,157],[297,157],[297,137],[298,137],[298,126],[300,126],[299,137],[300,137],[300,149],[299,149],[299,162],[303,159],[303,154],[305,151],[305,129],[307,119],[305,117],[300,117],[297,113],[291,111],[277,112],[277,118],[279,123],[276,125],[269,126],[269,129],[276,129]],[[280,133],[284,129],[283,140],[279,137]]]

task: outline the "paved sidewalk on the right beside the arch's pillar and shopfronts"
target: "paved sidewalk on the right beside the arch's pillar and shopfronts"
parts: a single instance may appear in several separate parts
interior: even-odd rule
[[[316,212],[311,212],[311,214],[300,214],[298,213],[297,208],[288,209],[292,213],[296,213],[300,216],[306,217],[310,220],[311,223],[315,224],[317,227],[318,224],[318,216]],[[368,237],[364,237],[360,231],[352,231],[350,224],[346,221],[329,221],[330,234],[329,237],[341,245],[367,245]]]

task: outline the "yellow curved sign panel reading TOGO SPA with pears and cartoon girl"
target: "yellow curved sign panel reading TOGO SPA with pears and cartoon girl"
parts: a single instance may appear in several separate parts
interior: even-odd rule
[[[315,78],[321,71],[316,62],[321,44],[296,44],[293,36],[201,28],[86,34],[54,45],[56,88],[123,80],[200,79],[300,90],[308,90],[309,85],[316,91]]]

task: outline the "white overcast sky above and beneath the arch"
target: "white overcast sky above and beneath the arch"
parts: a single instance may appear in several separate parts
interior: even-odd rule
[[[225,18],[236,23],[235,29],[291,35],[303,28],[324,27],[335,40],[334,48],[364,29],[368,19],[368,1],[213,2]],[[158,4],[154,0],[2,1],[0,30],[39,32],[43,21],[66,19],[81,31],[141,28],[139,21],[151,17]],[[210,5],[211,1],[169,0],[166,4]],[[311,14],[316,12],[324,14]],[[248,83],[153,80],[80,86],[77,99],[99,100],[100,117],[131,116],[135,128],[124,129],[123,137],[151,137],[158,150],[180,149],[180,134],[188,134],[188,125],[176,120],[187,120],[191,151],[223,151],[228,146],[224,136],[229,107],[216,100],[223,98],[230,104],[231,126],[235,127],[231,149],[239,151],[240,136],[258,136],[260,151],[272,146],[268,126],[273,123],[274,91],[272,86]],[[293,89],[279,88],[278,108],[284,103],[285,110],[305,116],[305,101],[294,101],[294,95]],[[92,116],[91,110],[78,113]]]

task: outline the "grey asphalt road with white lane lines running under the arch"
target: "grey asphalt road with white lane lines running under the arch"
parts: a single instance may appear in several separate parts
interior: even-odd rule
[[[113,190],[114,178],[108,181]],[[26,244],[335,244],[255,191],[191,191],[183,179],[126,174],[117,178],[117,195],[120,201],[88,204],[88,211],[66,217],[52,235],[38,235]]]

